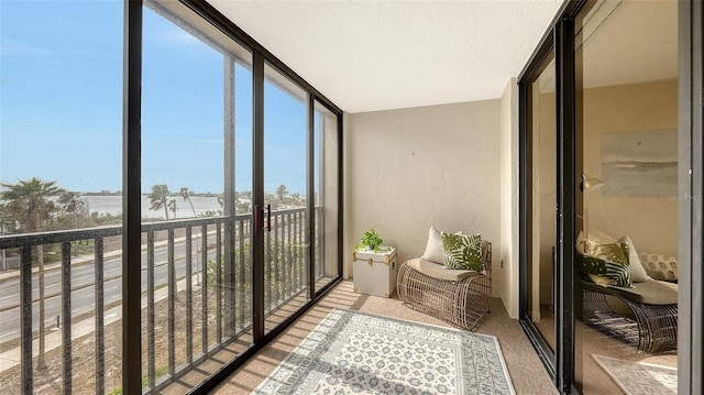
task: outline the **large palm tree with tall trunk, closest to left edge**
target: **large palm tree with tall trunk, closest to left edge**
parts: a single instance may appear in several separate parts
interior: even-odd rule
[[[66,194],[66,190],[56,186],[56,182],[43,182],[36,177],[30,180],[19,179],[16,184],[2,184],[0,199],[7,201],[6,210],[11,211],[18,219],[20,230],[25,233],[41,231],[44,224],[52,218],[56,210],[52,197]],[[40,296],[40,350],[36,362],[37,369],[46,367],[44,353],[46,350],[44,339],[44,245],[36,246],[36,264],[38,268],[38,296]]]

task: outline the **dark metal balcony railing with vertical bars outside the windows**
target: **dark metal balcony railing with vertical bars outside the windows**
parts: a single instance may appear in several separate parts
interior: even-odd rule
[[[318,261],[322,256],[323,211],[317,208],[316,212],[317,234],[311,242]],[[251,215],[240,215],[142,224],[142,262],[128,264],[142,267],[145,393],[160,391],[251,331]],[[306,230],[305,209],[272,212],[272,230],[264,240],[267,315],[308,287]],[[227,238],[227,232],[233,234]],[[121,305],[121,233],[122,227],[116,226],[0,237],[0,250],[20,255],[19,268],[0,272],[0,300],[6,300],[0,305],[0,314],[4,315],[0,320],[9,321],[10,329],[15,328],[0,332],[0,386],[10,392],[33,393],[35,365],[41,363],[40,356],[50,359],[37,354],[35,350],[41,348],[45,355],[53,350],[55,363],[61,363],[61,371],[53,378],[61,382],[64,393],[82,388],[82,383],[72,382],[79,373],[75,372],[74,361],[85,356],[79,354],[95,358],[95,377],[90,377],[95,385],[78,392],[116,393],[120,378],[113,374],[106,383],[106,366],[119,366],[118,362],[108,361],[113,355],[106,353],[106,328],[119,322],[107,322],[106,310],[119,311]],[[234,245],[226,249],[226,240],[234,240]],[[92,243],[92,253],[77,249],[77,243]],[[43,273],[35,264],[37,246],[59,251],[58,262],[46,263]],[[230,257],[226,251],[231,251]],[[316,278],[323,276],[322,265],[315,267]],[[40,284],[47,289],[41,292],[43,300],[37,297]],[[61,290],[51,292],[56,285]],[[12,295],[18,290],[19,300]],[[45,307],[44,316],[58,317],[56,327],[45,330],[42,337],[40,319],[45,317],[37,317],[37,305],[50,300],[55,305],[61,300],[59,311],[54,314]],[[166,322],[158,318],[164,304]],[[46,321],[53,322],[53,318]],[[84,334],[86,327],[92,328],[89,334]],[[51,344],[50,336],[57,329],[61,340]],[[14,338],[12,332],[16,332]],[[77,345],[77,339],[90,334],[95,350]],[[45,343],[40,347],[40,342]],[[119,349],[119,344],[112,345]]]

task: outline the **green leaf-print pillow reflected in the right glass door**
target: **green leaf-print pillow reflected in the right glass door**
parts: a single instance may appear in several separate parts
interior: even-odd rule
[[[598,285],[630,287],[628,244],[587,242],[588,254],[582,255],[582,271]]]

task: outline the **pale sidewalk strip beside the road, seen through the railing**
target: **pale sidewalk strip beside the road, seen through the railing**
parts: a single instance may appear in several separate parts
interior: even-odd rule
[[[194,274],[194,281],[196,279],[197,274]],[[180,279],[176,283],[176,289],[186,289],[186,278]],[[194,287],[194,289],[196,289]],[[154,303],[156,304],[160,300],[163,300],[168,297],[168,287],[162,287],[154,293]],[[142,296],[142,308],[146,308],[146,295]],[[105,311],[105,326],[114,323],[122,319],[122,306],[113,307],[109,310]],[[81,338],[86,334],[89,334],[96,330],[96,319],[87,318],[79,322],[75,322],[72,326],[72,342],[78,338]],[[46,340],[46,350],[45,352],[50,352],[62,347],[62,331],[55,328],[46,330],[48,334],[45,336]],[[32,342],[32,358],[36,358],[38,354],[40,348],[38,339],[35,339]],[[90,350],[92,353],[92,350]],[[16,347],[12,350],[8,350],[3,353],[0,353],[0,373],[12,369],[20,364],[22,355],[22,348]]]

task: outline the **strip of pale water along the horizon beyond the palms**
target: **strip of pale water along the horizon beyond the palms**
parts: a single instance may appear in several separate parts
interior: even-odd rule
[[[84,200],[88,205],[89,212],[99,212],[99,213],[110,213],[112,216],[117,216],[122,212],[122,196],[81,196],[81,200]],[[197,216],[205,213],[206,211],[218,211],[222,210],[220,205],[218,204],[218,198],[206,197],[206,196],[191,196],[190,200],[194,204],[194,209],[190,208],[188,200],[184,200],[182,197],[176,196],[176,218],[189,218],[194,217],[194,209]],[[150,209],[150,199],[146,196],[142,196],[142,217],[147,218],[162,218],[165,219],[164,209],[160,209],[158,211],[154,211]],[[173,212],[168,212],[168,218],[173,219]]]

